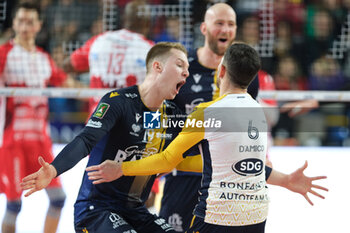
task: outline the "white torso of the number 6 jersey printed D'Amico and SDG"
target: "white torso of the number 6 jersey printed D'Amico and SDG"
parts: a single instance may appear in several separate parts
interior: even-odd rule
[[[268,212],[265,182],[267,124],[260,105],[248,94],[230,94],[204,103],[206,129],[200,150],[203,179],[195,215],[206,223],[240,226],[263,222]]]

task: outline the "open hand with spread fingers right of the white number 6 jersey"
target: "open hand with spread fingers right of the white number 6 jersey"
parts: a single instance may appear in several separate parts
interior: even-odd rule
[[[326,179],[326,176],[316,176],[316,177],[308,177],[304,175],[304,170],[307,168],[308,163],[305,161],[305,164],[297,169],[295,172],[288,175],[288,184],[286,185],[286,188],[296,192],[300,193],[304,196],[304,198],[310,203],[310,205],[313,205],[312,201],[310,200],[308,193],[311,193],[319,198],[324,199],[324,196],[319,194],[313,189],[321,189],[324,191],[328,191],[327,188],[319,186],[314,184],[313,182],[316,180]]]

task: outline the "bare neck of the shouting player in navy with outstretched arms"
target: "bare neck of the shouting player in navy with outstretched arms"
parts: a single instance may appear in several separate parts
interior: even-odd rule
[[[159,95],[159,92],[155,90],[155,85],[151,85],[150,82],[146,80],[138,86],[139,93],[143,104],[152,111],[159,109],[164,98]]]

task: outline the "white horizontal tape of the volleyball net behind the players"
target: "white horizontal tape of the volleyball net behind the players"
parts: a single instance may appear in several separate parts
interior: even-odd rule
[[[94,88],[0,88],[0,96],[47,96],[87,98],[103,96],[113,89]],[[279,101],[315,99],[323,102],[350,102],[350,91],[259,91],[263,99]]]

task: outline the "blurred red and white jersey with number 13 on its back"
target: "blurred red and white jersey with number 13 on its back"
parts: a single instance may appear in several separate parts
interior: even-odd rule
[[[91,88],[124,88],[142,83],[146,56],[154,45],[143,35],[126,29],[92,37],[70,59],[76,71],[90,70]],[[100,98],[91,98],[92,113]]]

